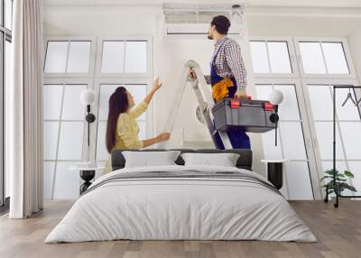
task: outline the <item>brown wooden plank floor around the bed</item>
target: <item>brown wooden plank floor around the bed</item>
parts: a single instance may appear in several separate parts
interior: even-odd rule
[[[71,206],[69,201],[46,202],[39,215],[25,220],[0,217],[0,257],[361,257],[361,201],[332,203],[294,201],[297,213],[319,242],[261,241],[110,241],[43,244]]]

